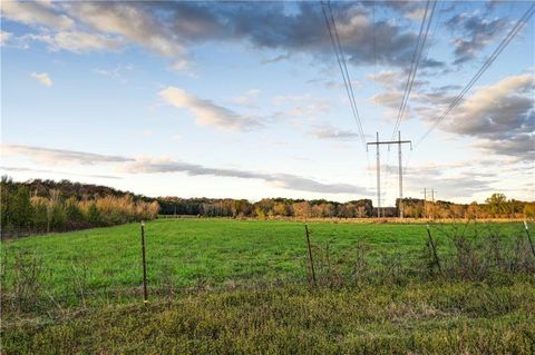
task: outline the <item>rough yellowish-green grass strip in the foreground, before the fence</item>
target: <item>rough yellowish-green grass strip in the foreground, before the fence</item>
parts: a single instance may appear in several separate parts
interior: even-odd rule
[[[6,354],[533,354],[535,287],[205,292],[3,325],[2,344]]]

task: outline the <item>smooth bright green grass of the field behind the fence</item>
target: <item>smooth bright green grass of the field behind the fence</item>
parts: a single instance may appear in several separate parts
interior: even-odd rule
[[[360,241],[370,249],[372,260],[399,253],[409,264],[427,240],[424,225],[311,223],[309,228],[312,241],[324,247],[329,240],[333,257],[339,259],[356,253]],[[521,224],[493,228],[508,237],[524,233]],[[438,228],[434,237],[440,245],[439,254],[450,250],[448,238]],[[152,287],[164,282],[176,287],[214,287],[305,277],[307,245],[301,223],[164,219],[147,223],[146,240]],[[45,286],[51,295],[72,293],[69,285],[84,268],[85,287],[90,290],[137,287],[142,283],[138,224],[28,237],[6,241],[2,248],[7,253],[8,288],[13,256],[22,250],[40,259],[47,274]]]

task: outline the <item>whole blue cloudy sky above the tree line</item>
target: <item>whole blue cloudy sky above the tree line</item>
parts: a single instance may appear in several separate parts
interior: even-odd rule
[[[397,137],[399,116],[403,196],[534,200],[533,17],[445,116],[532,3],[332,1],[360,136],[319,1],[2,1],[1,170],[147,196],[377,205],[363,142]],[[380,174],[393,206],[397,146],[380,147]]]

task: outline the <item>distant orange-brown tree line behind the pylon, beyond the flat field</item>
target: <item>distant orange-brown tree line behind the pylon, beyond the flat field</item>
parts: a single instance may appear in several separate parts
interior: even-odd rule
[[[162,215],[194,215],[205,217],[298,217],[298,218],[370,218],[378,210],[370,199],[348,203],[324,199],[264,198],[256,203],[246,199],[178,198],[157,199]],[[396,207],[381,208],[381,217],[398,217],[400,204],[408,218],[535,218],[535,203],[507,199],[494,194],[485,204],[426,201],[417,198],[396,200]]]

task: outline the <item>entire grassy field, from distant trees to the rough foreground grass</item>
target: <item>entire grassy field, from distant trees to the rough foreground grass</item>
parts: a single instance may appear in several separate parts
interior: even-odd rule
[[[138,224],[3,241],[3,349],[8,354],[535,352],[533,273],[428,278],[422,276],[428,238],[424,225],[314,221],[309,228],[318,277],[323,280],[319,288],[308,282],[302,223],[150,221],[146,225],[148,305],[139,302]],[[495,236],[489,246],[497,247],[481,247],[478,263],[497,249],[505,253],[506,246],[513,250],[517,240],[525,239],[519,223],[471,224],[466,230],[436,225],[431,233],[442,267],[448,258],[459,257],[454,235],[464,233],[473,240]],[[364,269],[363,259],[373,270],[371,276],[347,283],[357,269]],[[16,302],[17,293],[25,303]]]

